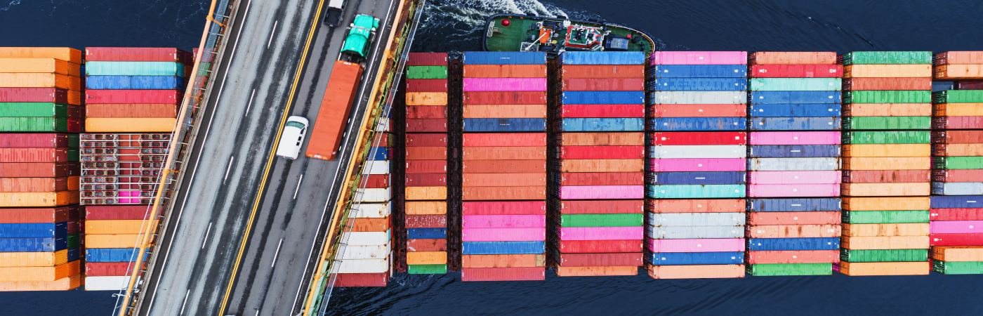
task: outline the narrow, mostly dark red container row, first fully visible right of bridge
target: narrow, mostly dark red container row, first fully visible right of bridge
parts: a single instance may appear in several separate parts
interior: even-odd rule
[[[410,53],[406,95],[407,273],[446,274],[447,53]]]

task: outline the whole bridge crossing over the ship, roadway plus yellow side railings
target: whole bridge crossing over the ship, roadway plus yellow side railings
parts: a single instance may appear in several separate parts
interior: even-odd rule
[[[380,20],[338,158],[275,158],[286,118],[317,117],[345,35],[325,0],[213,0],[118,315],[315,314],[420,0],[349,0]],[[305,144],[306,149],[307,144]],[[302,149],[302,152],[304,149]]]

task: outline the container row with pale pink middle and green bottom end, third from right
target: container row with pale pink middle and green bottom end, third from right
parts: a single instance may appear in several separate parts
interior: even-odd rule
[[[748,274],[820,276],[839,262],[836,52],[751,55]]]

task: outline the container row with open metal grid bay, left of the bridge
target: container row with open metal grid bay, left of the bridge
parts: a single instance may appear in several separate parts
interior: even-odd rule
[[[82,204],[86,289],[128,284],[192,68],[177,48],[87,47]]]

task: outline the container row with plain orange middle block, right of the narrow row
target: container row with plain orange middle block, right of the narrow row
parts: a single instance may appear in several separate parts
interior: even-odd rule
[[[546,278],[546,59],[464,53],[463,281]]]

